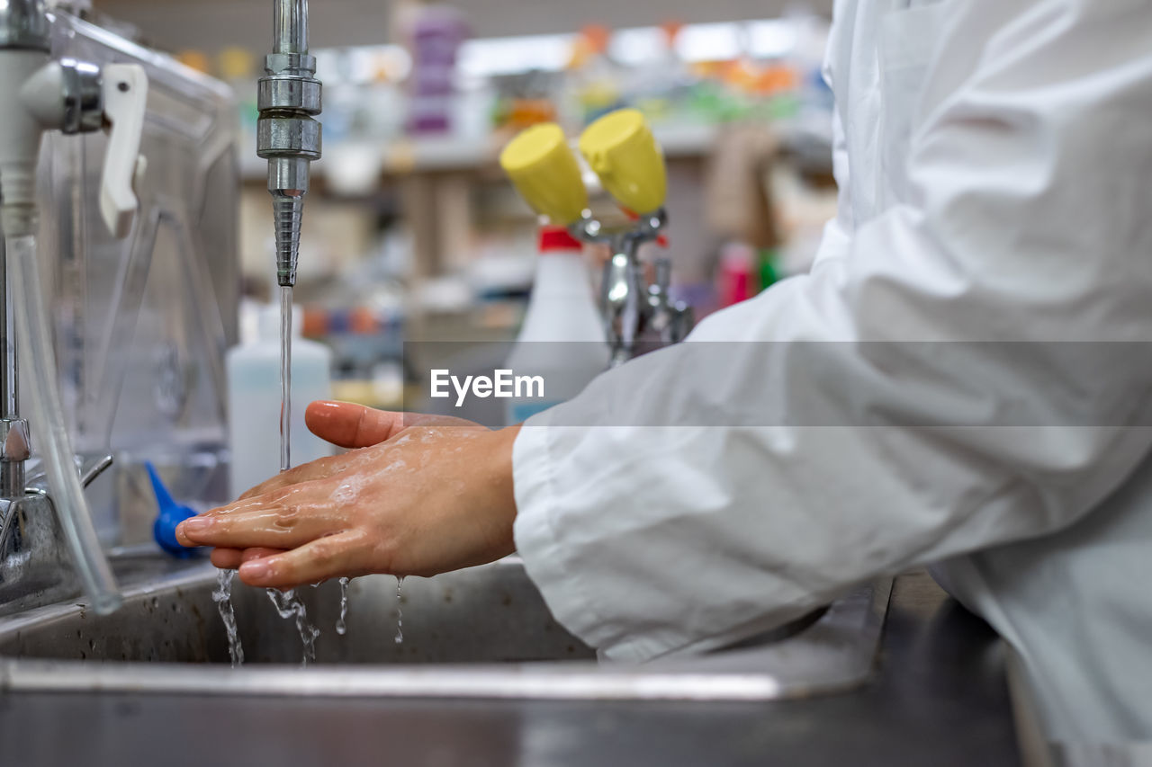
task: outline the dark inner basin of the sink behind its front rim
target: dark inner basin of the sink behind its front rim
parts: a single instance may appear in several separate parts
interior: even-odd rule
[[[139,575],[157,564],[143,561]],[[121,568],[122,569],[122,568]],[[129,576],[131,577],[131,576]],[[202,564],[160,575],[135,590],[122,609],[98,616],[59,605],[0,621],[0,655],[61,660],[227,663],[228,643],[212,601],[215,569]],[[329,580],[298,590],[320,630],[316,662],[482,663],[593,660],[596,653],[548,613],[523,565],[493,565],[435,578],[356,578],[348,588],[348,631],[340,636],[340,587]],[[247,663],[300,663],[294,622],[281,618],[264,590],[234,582],[232,602]],[[395,641],[403,612],[403,641]]]

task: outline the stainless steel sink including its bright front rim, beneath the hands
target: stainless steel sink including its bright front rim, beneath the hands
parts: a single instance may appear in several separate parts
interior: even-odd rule
[[[344,636],[339,586],[301,594],[320,629],[317,662],[263,591],[236,582],[245,666],[228,666],[207,563],[157,557],[116,563],[124,607],[98,616],[81,602],[0,618],[0,689],[221,694],[559,699],[776,699],[846,690],[873,666],[890,582],[733,648],[646,666],[597,663],[548,613],[518,559],[408,578],[357,578]],[[395,641],[403,612],[403,641]]]

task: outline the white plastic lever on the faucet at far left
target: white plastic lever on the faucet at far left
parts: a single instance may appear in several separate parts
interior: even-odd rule
[[[115,237],[128,236],[139,207],[135,182],[146,165],[139,157],[146,106],[147,75],[143,67],[104,66],[104,117],[112,127],[100,181],[100,215]]]

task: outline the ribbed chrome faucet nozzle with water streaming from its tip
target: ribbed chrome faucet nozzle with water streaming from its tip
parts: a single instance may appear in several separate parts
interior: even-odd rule
[[[276,237],[276,282],[296,284],[300,227],[310,168],[320,159],[321,85],[308,52],[308,0],[274,0],[272,53],[257,85],[256,153],[268,161]]]

